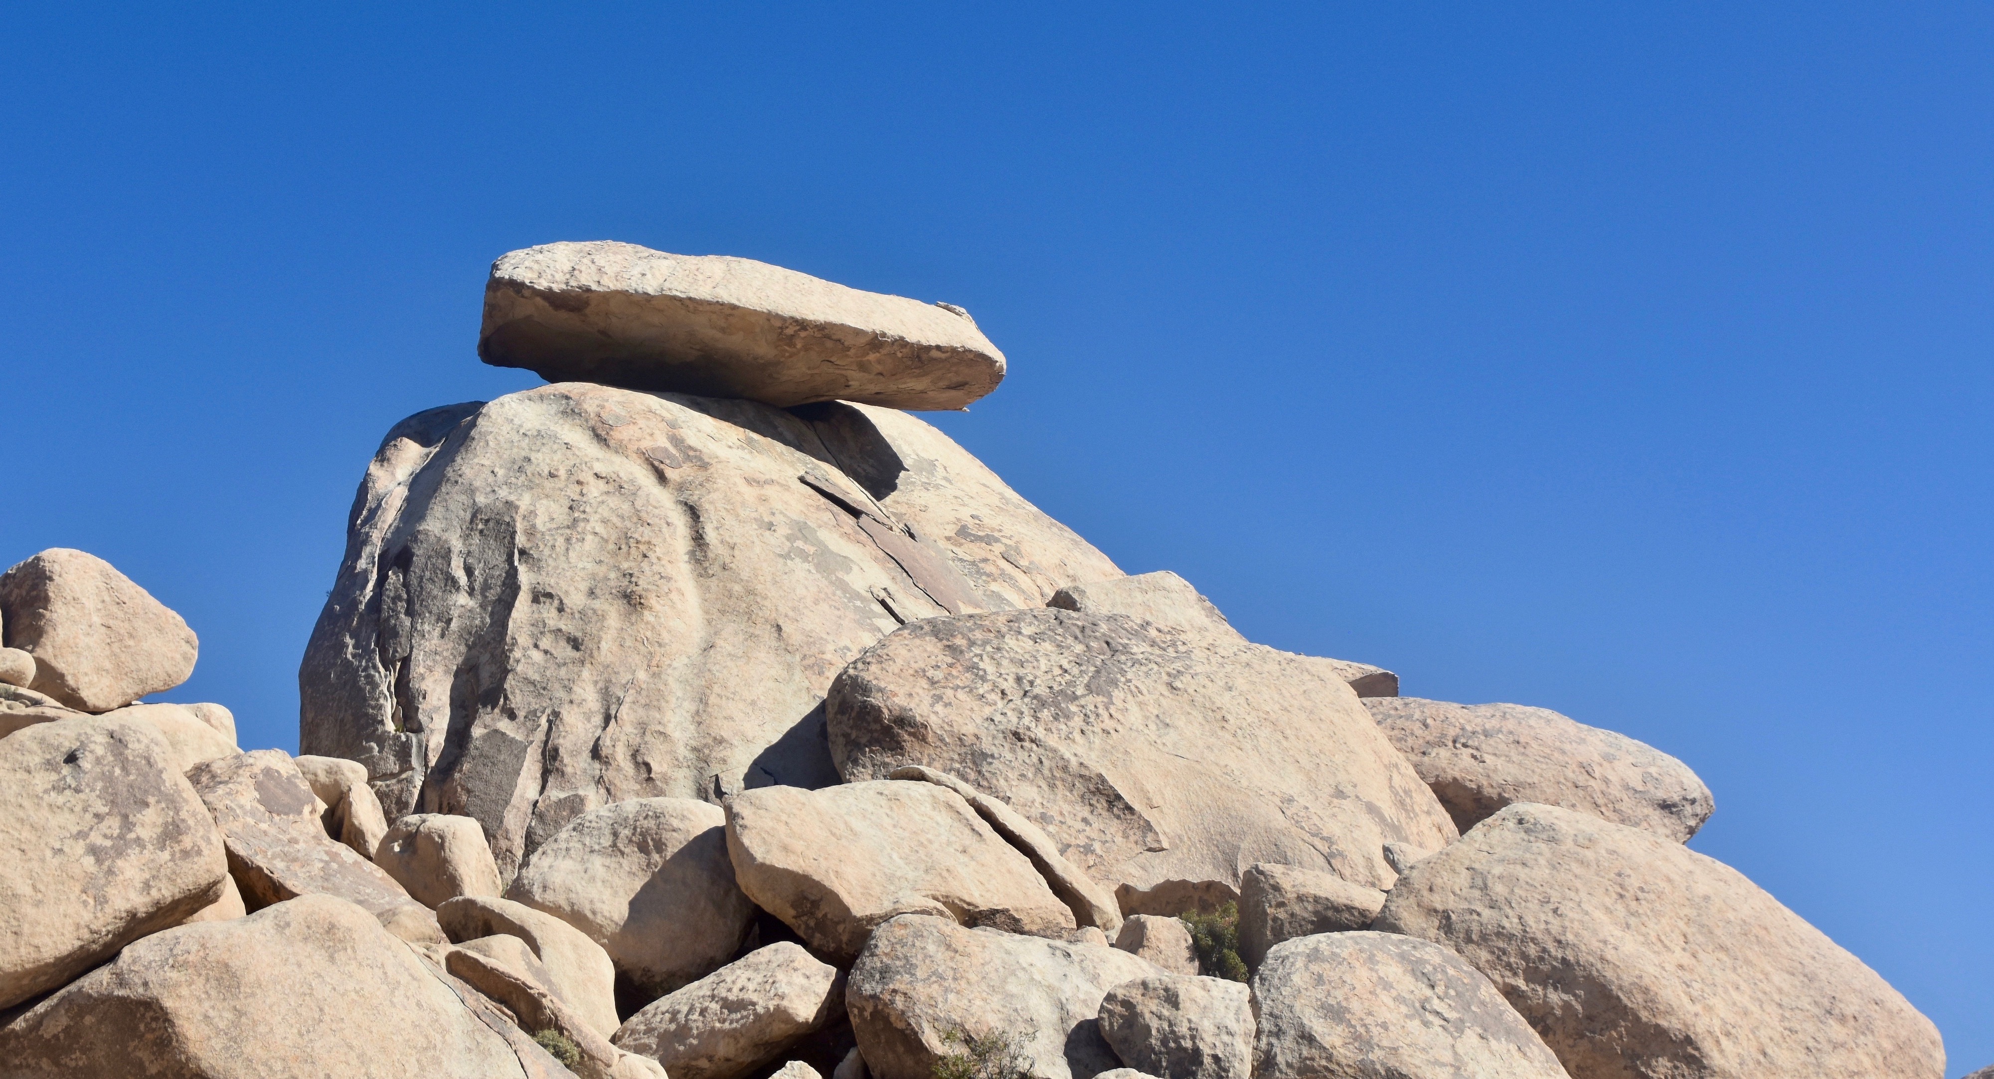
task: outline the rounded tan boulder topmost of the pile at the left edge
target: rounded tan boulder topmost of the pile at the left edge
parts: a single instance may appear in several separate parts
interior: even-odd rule
[[[187,622],[96,554],[48,548],[0,574],[4,644],[34,656],[34,688],[110,712],[193,674]]]

